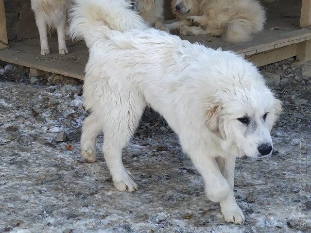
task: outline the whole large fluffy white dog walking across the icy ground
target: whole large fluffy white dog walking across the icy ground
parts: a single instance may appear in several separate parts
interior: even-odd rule
[[[149,105],[178,134],[207,197],[220,202],[226,221],[242,224],[233,194],[235,159],[271,153],[269,132],[281,108],[257,68],[234,53],[146,29],[123,0],[76,4],[69,31],[89,48],[83,95],[91,114],[83,123],[83,157],[96,160],[103,131],[115,187],[137,189],[121,155]]]

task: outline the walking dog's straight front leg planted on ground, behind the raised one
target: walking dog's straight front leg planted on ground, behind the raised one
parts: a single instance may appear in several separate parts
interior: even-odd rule
[[[227,158],[217,159],[218,165],[229,183],[230,193],[224,200],[220,201],[220,206],[222,208],[222,213],[225,217],[225,221],[234,222],[236,224],[242,224],[244,222],[244,215],[241,208],[238,206],[234,193],[234,166],[235,166],[235,157],[228,156]]]

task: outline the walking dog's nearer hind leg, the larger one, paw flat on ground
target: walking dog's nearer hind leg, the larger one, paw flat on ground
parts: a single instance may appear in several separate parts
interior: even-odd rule
[[[112,105],[113,104],[113,105]],[[122,149],[129,142],[143,114],[145,103],[137,95],[117,96],[111,100],[104,116],[104,159],[115,187],[120,191],[135,191],[137,184],[122,163]]]

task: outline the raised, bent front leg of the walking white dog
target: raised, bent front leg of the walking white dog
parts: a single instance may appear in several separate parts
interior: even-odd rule
[[[189,155],[194,166],[203,176],[207,198],[213,202],[226,200],[231,189],[215,158],[198,150],[190,151]]]

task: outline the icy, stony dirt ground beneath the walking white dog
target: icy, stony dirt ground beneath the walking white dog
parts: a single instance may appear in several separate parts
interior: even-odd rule
[[[81,83],[29,79],[0,65],[0,232],[285,233],[311,232],[311,63],[262,67],[284,104],[272,131],[273,155],[238,159],[235,196],[244,225],[226,223],[166,122],[146,111],[123,151],[138,184],[119,192],[104,162],[79,153]],[[33,84],[31,84],[33,83]],[[60,83],[60,84],[57,84]]]

